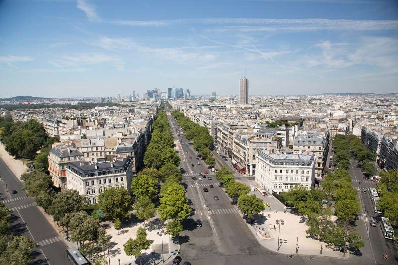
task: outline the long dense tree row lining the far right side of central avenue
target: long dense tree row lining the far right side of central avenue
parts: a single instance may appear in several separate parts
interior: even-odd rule
[[[192,141],[194,149],[204,159],[204,162],[210,167],[214,166],[215,159],[210,151],[213,145],[213,138],[207,128],[194,123],[188,117],[184,117],[184,114],[180,111],[173,111],[172,115],[183,128],[185,137]]]

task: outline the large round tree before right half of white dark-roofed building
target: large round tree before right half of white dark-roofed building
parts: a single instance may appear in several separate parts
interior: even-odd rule
[[[112,187],[104,190],[98,196],[98,206],[103,215],[114,222],[116,219],[123,220],[129,217],[133,208],[131,196],[122,187]]]

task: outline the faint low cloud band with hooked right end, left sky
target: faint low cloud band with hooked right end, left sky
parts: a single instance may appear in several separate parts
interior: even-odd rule
[[[117,70],[124,70],[124,62],[121,58],[102,53],[77,53],[74,55],[64,55],[54,60],[49,60],[49,63],[59,68],[76,68],[81,67],[82,65],[112,63]]]

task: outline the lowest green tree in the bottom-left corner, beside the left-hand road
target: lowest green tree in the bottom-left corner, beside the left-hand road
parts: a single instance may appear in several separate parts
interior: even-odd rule
[[[29,265],[33,261],[32,249],[36,246],[33,240],[25,236],[14,236],[8,242],[7,249],[1,254],[1,264]]]

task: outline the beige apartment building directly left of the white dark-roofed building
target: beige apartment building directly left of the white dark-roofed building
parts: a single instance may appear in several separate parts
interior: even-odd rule
[[[67,188],[66,167],[70,162],[83,159],[83,154],[74,147],[64,144],[53,144],[48,154],[48,171],[55,187]]]

